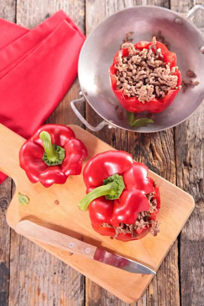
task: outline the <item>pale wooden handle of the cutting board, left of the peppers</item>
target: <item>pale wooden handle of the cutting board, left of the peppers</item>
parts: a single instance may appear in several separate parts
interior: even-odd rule
[[[25,139],[0,123],[0,171],[15,179],[19,173],[19,150]]]

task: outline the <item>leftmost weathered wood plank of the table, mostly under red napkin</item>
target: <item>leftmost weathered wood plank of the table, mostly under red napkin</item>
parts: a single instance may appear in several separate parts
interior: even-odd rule
[[[15,22],[16,0],[0,2],[0,17]],[[9,301],[10,228],[6,222],[6,208],[11,200],[11,179],[0,185],[0,306]]]

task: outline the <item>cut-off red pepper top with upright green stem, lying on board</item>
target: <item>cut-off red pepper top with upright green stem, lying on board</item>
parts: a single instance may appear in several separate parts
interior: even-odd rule
[[[69,175],[79,175],[87,157],[83,142],[67,126],[46,124],[28,139],[19,152],[20,167],[32,183],[64,184]]]

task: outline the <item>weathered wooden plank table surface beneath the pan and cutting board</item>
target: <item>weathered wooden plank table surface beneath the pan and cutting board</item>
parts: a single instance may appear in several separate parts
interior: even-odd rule
[[[89,35],[115,11],[142,4],[171,8],[185,16],[204,0],[0,0],[0,17],[33,28],[64,9]],[[197,17],[204,29],[202,13]],[[76,80],[49,123],[82,126],[70,108],[70,101],[79,97],[79,91]],[[92,125],[101,121],[88,104],[80,111]],[[201,105],[186,122],[164,132],[144,135],[103,128],[95,133],[195,199],[195,210],[137,306],[204,305],[203,118]],[[0,186],[0,306],[127,306],[9,228],[5,215],[14,190],[10,178]]]

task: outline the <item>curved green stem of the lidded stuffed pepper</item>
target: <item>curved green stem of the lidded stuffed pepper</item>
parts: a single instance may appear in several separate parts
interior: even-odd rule
[[[115,181],[110,182],[106,185],[99,186],[91,192],[89,192],[80,202],[79,202],[79,209],[82,211],[87,211],[89,204],[99,198],[100,196],[111,195],[114,196],[118,192],[119,184]]]

